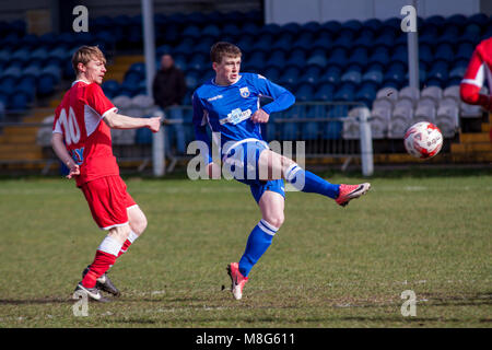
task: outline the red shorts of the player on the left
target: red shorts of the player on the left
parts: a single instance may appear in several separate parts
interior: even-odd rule
[[[96,178],[83,184],[81,189],[94,221],[103,230],[128,223],[127,209],[137,206],[119,175]]]

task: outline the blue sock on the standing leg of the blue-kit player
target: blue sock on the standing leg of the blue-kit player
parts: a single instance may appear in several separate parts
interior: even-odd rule
[[[265,252],[267,252],[278,230],[278,228],[272,226],[262,219],[253,229],[246,244],[246,249],[239,260],[239,272],[244,277],[248,277],[249,270]]]

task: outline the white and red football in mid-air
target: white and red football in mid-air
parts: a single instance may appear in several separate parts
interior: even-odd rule
[[[419,121],[405,132],[407,152],[422,160],[433,158],[443,147],[443,135],[440,128],[429,121]]]

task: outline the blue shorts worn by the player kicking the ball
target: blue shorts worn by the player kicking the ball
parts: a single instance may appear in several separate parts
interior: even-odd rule
[[[234,179],[249,186],[256,202],[267,190],[271,190],[285,198],[283,179],[260,180],[258,160],[262,151],[268,150],[265,141],[248,139],[236,142],[226,150],[223,162],[231,170]]]

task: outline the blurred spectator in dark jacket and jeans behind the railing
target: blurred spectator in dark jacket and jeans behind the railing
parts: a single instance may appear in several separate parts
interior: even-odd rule
[[[166,114],[166,118],[181,119],[183,113],[179,107],[186,94],[186,81],[183,71],[174,65],[174,59],[169,54],[161,57],[161,69],[154,77],[152,83],[154,102]],[[181,124],[168,128],[176,137],[176,150],[185,153],[185,132]],[[169,138],[166,137],[166,140]],[[166,142],[169,150],[169,142]]]

